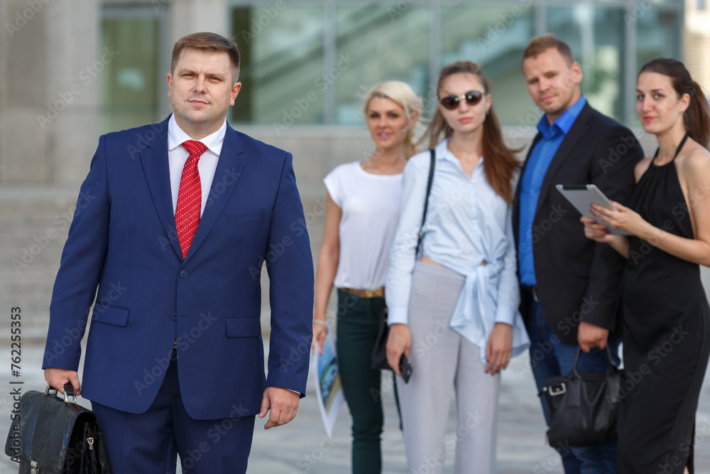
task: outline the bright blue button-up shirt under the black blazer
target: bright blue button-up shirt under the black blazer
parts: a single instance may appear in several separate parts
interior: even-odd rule
[[[537,130],[542,137],[535,144],[535,148],[530,153],[528,164],[525,166],[523,181],[520,183],[520,233],[518,235],[518,264],[520,265],[520,283],[527,286],[535,286],[535,262],[532,258],[532,243],[540,236],[532,232],[532,222],[535,220],[535,210],[537,200],[540,199],[540,188],[545,179],[547,168],[550,168],[552,158],[555,157],[559,145],[562,144],[564,136],[567,135],[572,124],[579,117],[579,112],[584,108],[586,98],[583,96],[572,104],[572,107],[562,112],[557,117],[555,123],[547,122],[547,116],[543,115],[537,124]]]

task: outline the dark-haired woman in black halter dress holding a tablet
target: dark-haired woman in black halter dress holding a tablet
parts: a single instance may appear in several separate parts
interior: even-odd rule
[[[636,166],[628,208],[592,206],[630,237],[582,217],[587,237],[628,258],[618,472],[692,473],[695,412],[710,355],[699,269],[710,266],[710,114],[684,65],[667,58],[641,69],[636,110],[656,136],[655,156]]]

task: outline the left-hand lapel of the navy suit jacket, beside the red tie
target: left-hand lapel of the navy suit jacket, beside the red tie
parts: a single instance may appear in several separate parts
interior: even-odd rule
[[[143,173],[146,173],[148,190],[153,198],[153,205],[158,212],[160,223],[163,224],[165,235],[168,236],[166,242],[161,241],[161,245],[170,243],[175,250],[175,254],[182,258],[180,242],[178,241],[178,230],[175,228],[175,212],[173,212],[173,193],[170,190],[170,166],[168,164],[168,119],[161,123],[161,130],[155,139],[143,139],[146,149],[141,152],[141,163]]]

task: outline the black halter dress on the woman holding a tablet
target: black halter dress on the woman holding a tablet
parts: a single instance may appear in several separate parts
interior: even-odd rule
[[[678,147],[675,156],[685,142]],[[657,154],[657,152],[656,152]],[[630,208],[650,224],[692,239],[675,167],[653,161]],[[623,357],[618,472],[693,473],[695,412],[710,355],[710,308],[700,268],[630,237],[623,284]]]

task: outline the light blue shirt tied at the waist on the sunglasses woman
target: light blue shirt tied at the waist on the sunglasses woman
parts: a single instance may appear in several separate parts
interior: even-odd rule
[[[512,208],[486,180],[484,158],[469,178],[447,148],[448,143],[444,140],[435,149],[422,254],[466,278],[449,325],[479,347],[481,362],[486,364],[486,344],[495,323],[513,326],[513,355],[530,345],[518,311]],[[390,324],[408,323],[429,166],[430,152],[425,151],[410,158],[404,170],[400,222],[386,282]],[[486,265],[481,265],[484,261]]]

